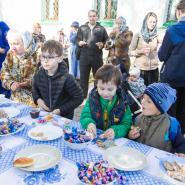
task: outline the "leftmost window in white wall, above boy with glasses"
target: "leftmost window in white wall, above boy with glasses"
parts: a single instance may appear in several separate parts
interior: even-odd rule
[[[41,17],[42,23],[58,23],[59,0],[42,0]]]

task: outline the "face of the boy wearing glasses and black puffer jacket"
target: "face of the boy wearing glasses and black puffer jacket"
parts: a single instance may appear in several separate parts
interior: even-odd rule
[[[42,67],[48,71],[48,73],[55,73],[61,61],[62,57],[56,53],[49,54],[48,52],[43,52],[41,55]]]

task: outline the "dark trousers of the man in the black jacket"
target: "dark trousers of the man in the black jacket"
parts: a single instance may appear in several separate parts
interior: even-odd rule
[[[84,92],[84,98],[87,97],[89,88],[89,75],[92,69],[93,77],[96,71],[103,65],[102,56],[80,55],[80,85]]]

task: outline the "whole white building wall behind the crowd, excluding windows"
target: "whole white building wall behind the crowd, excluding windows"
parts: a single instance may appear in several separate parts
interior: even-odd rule
[[[169,0],[118,0],[118,16],[126,18],[130,30],[141,29],[144,16],[153,11],[158,15],[158,26],[165,21]],[[68,34],[72,21],[83,24],[87,12],[93,8],[93,0],[59,0],[58,25],[42,25],[46,38],[51,38],[58,29],[64,27]],[[41,0],[0,0],[0,19],[14,29],[32,31],[32,24],[41,20]]]

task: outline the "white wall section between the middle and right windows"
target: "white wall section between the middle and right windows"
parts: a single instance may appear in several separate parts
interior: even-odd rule
[[[141,29],[143,19],[148,12],[158,16],[158,26],[165,22],[169,0],[118,0],[118,16],[127,20],[127,25],[133,32]]]

